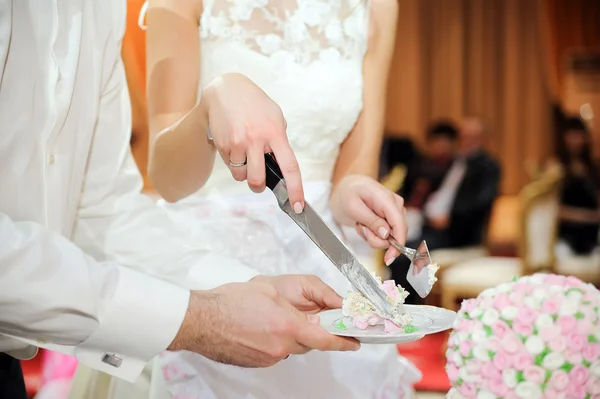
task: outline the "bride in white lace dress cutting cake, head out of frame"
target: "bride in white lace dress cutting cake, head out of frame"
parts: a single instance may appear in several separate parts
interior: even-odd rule
[[[198,237],[208,226],[214,237],[235,242],[219,250],[236,262],[267,275],[315,274],[345,295],[348,281],[278,209],[273,194],[262,192],[264,153],[272,150],[284,173],[301,170],[304,193],[286,178],[299,213],[306,198],[330,226],[349,226],[345,233],[358,222],[347,216],[350,208],[377,223],[401,217],[401,198],[375,180],[397,12],[395,0],[150,1],[149,174],[172,202],[162,205],[173,220],[194,221]],[[207,92],[228,82],[243,87],[248,79],[281,107],[295,158],[279,152],[281,142],[263,140],[266,132],[211,119],[207,140],[189,122]],[[255,103],[243,91],[236,96],[250,108]],[[359,191],[364,202],[352,201]],[[383,222],[358,230],[370,243],[379,236],[386,244],[392,233],[405,240],[405,230],[390,231]],[[412,395],[419,378],[394,345],[365,346],[351,356],[313,351],[268,370],[178,352],[157,359],[150,381],[113,381],[106,389],[92,378],[86,395],[97,398],[104,389],[123,399],[399,398]]]

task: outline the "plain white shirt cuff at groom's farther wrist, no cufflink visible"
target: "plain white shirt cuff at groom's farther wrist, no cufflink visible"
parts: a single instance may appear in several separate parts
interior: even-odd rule
[[[208,253],[190,269],[185,286],[191,290],[209,290],[228,283],[245,283],[260,273],[235,258]]]

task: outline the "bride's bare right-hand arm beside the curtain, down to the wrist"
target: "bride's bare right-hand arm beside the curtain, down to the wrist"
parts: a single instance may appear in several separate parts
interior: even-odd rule
[[[363,64],[363,111],[342,144],[333,175],[334,187],[349,174],[377,178],[397,18],[396,0],[371,2],[369,45]]]

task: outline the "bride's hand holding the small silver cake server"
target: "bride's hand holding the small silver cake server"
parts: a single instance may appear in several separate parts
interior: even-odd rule
[[[385,262],[400,253],[391,247],[390,234],[400,244],[408,230],[404,200],[367,176],[349,175],[338,183],[331,195],[331,209],[341,225],[356,226],[356,231],[373,248],[388,248]]]

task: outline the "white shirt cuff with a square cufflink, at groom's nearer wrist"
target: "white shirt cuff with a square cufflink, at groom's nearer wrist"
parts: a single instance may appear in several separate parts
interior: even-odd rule
[[[189,297],[187,289],[119,267],[114,291],[101,304],[98,328],[75,348],[77,360],[134,382],[177,335]]]

